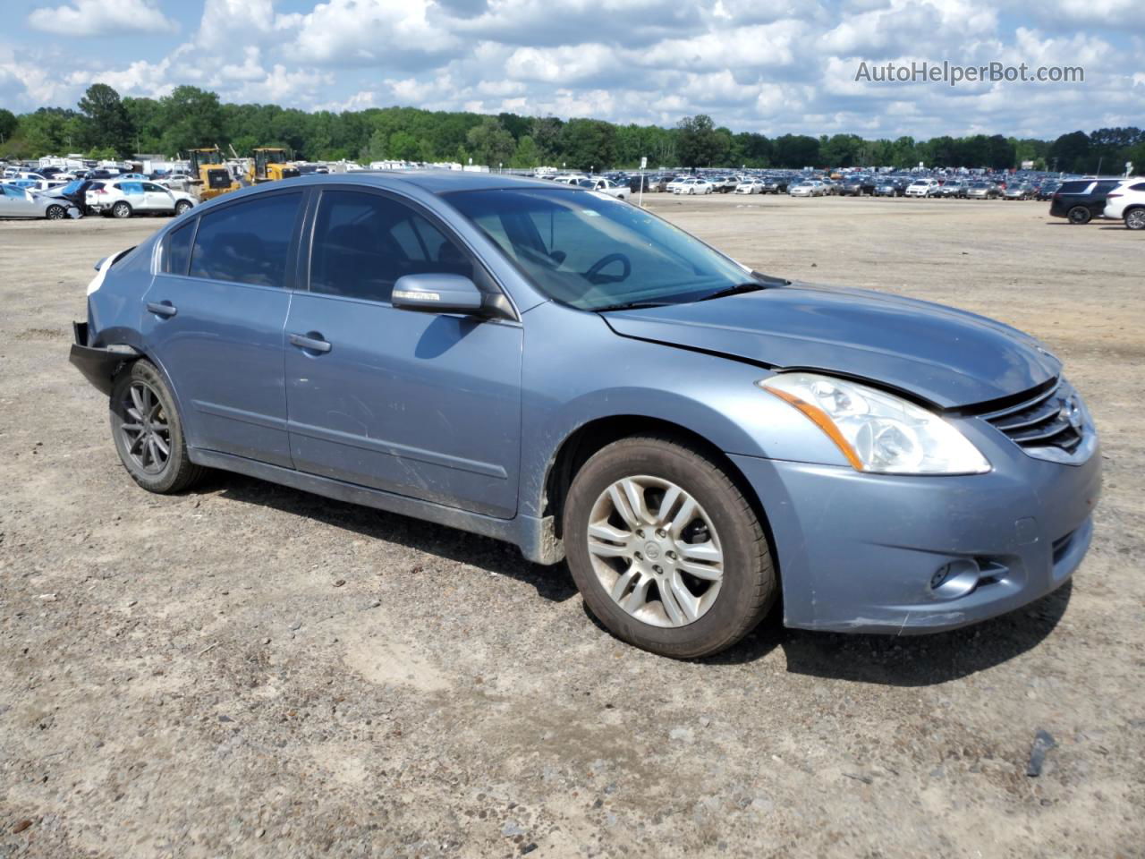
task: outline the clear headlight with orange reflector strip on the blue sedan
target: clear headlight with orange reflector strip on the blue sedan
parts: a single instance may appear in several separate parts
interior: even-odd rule
[[[802,411],[855,471],[878,474],[981,474],[986,457],[938,415],[854,381],[790,372],[757,383]]]

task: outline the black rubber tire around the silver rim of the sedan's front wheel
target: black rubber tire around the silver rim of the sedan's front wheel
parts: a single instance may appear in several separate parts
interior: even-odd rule
[[[657,626],[617,605],[593,567],[587,528],[601,494],[626,476],[671,481],[706,511],[720,535],[724,577],[704,614],[681,626]],[[564,504],[569,569],[593,615],[617,638],[672,659],[698,659],[731,647],[758,625],[779,596],[772,551],[759,518],[727,471],[670,436],[622,439],[594,454],[577,472]]]

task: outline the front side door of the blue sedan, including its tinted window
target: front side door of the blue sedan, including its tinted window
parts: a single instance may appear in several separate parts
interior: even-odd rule
[[[308,230],[309,292],[286,323],[294,466],[511,518],[520,323],[389,304],[402,275],[461,274],[496,291],[489,275],[433,215],[381,192],[324,190]]]

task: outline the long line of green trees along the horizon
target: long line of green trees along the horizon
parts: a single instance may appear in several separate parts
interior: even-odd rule
[[[120,97],[94,84],[76,108],[40,108],[16,116],[0,108],[0,158],[82,152],[93,158],[167,156],[197,147],[285,147],[310,160],[382,159],[460,161],[505,167],[542,165],[575,170],[656,166],[747,167],[989,167],[1033,161],[1071,173],[1120,173],[1126,161],[1145,170],[1139,128],[1076,131],[1052,141],[976,134],[915,140],[864,140],[854,134],[768,137],[732,132],[711,117],[685,117],[674,128],[616,125],[600,119],[497,116],[418,108],[308,112],[277,104],[231,104],[192,86],[159,98]]]

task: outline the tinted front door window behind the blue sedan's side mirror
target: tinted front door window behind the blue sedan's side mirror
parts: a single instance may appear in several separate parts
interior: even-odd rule
[[[411,274],[474,277],[469,258],[409,206],[376,194],[324,191],[310,254],[310,291],[389,301]],[[480,276],[474,278],[481,285]]]

